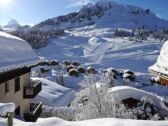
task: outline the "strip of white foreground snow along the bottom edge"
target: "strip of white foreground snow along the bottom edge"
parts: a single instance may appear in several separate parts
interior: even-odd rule
[[[7,126],[6,119],[0,118],[0,126]],[[130,119],[92,119],[86,121],[64,121],[53,117],[38,119],[36,123],[25,123],[14,119],[14,126],[168,126],[168,121],[130,120]]]

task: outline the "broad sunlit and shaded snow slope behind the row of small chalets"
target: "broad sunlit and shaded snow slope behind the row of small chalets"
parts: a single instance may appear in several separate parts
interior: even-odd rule
[[[77,60],[96,68],[131,69],[147,73],[156,62],[162,42],[159,40],[130,41],[128,37],[113,37],[113,29],[88,26],[66,31],[64,37],[50,40],[38,50],[48,59]]]

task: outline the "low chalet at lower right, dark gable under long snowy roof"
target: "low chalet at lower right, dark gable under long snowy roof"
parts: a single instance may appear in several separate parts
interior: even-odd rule
[[[123,103],[128,108],[136,108],[141,103],[142,98],[151,99],[153,105],[164,115],[168,114],[167,100],[155,94],[129,86],[116,86],[109,90],[109,93],[116,96],[118,102]]]

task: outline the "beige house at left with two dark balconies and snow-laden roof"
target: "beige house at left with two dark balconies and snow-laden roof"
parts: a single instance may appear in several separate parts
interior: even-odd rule
[[[42,111],[40,102],[30,101],[42,90],[40,81],[30,80],[39,62],[26,41],[0,32],[0,103],[14,103],[15,117],[25,121],[36,121]]]

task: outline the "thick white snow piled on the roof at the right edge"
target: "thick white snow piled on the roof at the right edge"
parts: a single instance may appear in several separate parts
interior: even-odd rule
[[[149,70],[154,70],[168,75],[168,41],[164,43],[157,62],[153,66],[149,67]]]

